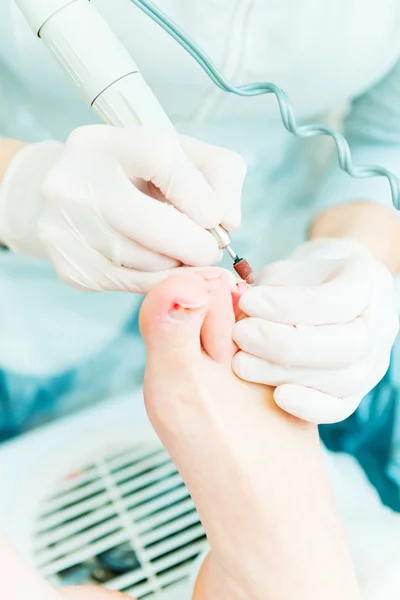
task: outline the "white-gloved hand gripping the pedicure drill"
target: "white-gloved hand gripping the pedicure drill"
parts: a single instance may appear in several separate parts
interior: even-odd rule
[[[240,224],[244,160],[144,127],[91,125],[18,152],[0,188],[0,240],[86,291],[145,293],[217,262],[206,231]],[[159,200],[167,200],[159,202]]]

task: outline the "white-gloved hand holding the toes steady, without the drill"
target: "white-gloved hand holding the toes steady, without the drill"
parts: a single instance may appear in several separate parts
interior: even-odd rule
[[[240,299],[233,369],[276,386],[285,411],[347,418],[381,380],[399,329],[393,278],[363,245],[315,240],[266,267]]]

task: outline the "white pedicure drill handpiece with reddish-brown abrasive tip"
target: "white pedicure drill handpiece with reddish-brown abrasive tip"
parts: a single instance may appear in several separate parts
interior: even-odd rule
[[[177,134],[136,63],[93,3],[17,0],[17,5],[104,123],[119,127],[150,125]],[[252,268],[232,249],[226,229],[218,225],[210,233],[233,259],[239,277],[254,283]]]

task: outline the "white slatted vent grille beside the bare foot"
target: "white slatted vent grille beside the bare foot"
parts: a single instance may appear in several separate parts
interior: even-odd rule
[[[207,547],[189,493],[156,443],[96,456],[59,481],[39,511],[33,555],[57,585],[179,600]]]

